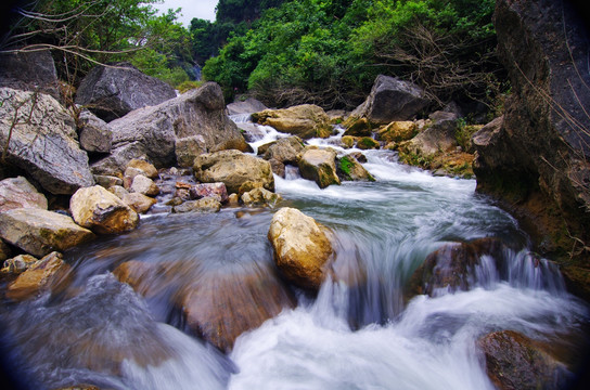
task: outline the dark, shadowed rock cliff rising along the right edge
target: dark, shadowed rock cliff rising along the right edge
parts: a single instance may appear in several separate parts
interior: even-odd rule
[[[576,17],[565,0],[497,0],[512,95],[501,127],[480,136],[474,171],[477,191],[520,218],[538,250],[574,259],[564,273],[590,297],[590,40]]]

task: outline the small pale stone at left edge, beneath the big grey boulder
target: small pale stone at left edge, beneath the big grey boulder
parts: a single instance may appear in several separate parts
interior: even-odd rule
[[[0,212],[15,208],[47,210],[47,198],[23,177],[4,179],[0,181]]]

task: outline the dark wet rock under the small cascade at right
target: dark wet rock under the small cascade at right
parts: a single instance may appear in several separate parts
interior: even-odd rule
[[[445,244],[429,253],[415,270],[409,282],[411,295],[435,296],[438,289],[449,292],[467,290],[474,282],[475,266],[484,255],[491,256],[501,265],[505,250],[498,238],[477,238],[471,243]],[[498,266],[500,268],[500,266]]]

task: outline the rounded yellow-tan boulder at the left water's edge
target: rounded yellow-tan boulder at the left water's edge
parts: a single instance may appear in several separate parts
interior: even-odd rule
[[[129,232],[139,223],[136,211],[100,185],[78,190],[69,210],[76,223],[98,234]]]

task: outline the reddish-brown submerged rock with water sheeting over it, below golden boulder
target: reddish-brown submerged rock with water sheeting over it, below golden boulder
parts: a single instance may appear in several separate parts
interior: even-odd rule
[[[238,336],[293,308],[291,291],[271,270],[265,271],[210,275],[187,289],[182,311],[188,327],[229,352]]]

